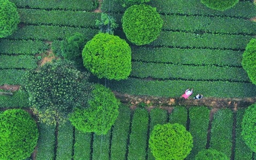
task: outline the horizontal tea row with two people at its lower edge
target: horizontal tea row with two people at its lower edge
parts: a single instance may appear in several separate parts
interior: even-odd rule
[[[205,97],[254,97],[256,86],[251,83],[239,82],[210,82],[210,81],[147,81],[136,78],[127,78],[121,81],[110,81],[112,90],[134,94],[154,95],[159,97],[180,97],[188,88],[194,93]],[[234,92],[236,91],[236,92]]]

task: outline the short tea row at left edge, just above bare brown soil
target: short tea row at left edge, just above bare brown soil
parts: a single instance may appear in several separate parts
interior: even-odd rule
[[[3,84],[24,84],[24,79],[22,78],[25,75],[25,70],[17,69],[2,69],[0,70],[0,85]]]

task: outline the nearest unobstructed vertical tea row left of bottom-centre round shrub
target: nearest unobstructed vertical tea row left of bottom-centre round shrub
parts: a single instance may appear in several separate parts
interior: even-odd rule
[[[128,159],[146,158],[147,130],[148,111],[142,108],[135,109],[132,119]]]

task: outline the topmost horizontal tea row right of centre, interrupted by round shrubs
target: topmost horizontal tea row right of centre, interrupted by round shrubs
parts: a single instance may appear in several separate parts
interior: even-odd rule
[[[251,1],[240,1],[234,7],[226,11],[216,11],[209,9],[198,0],[169,1],[169,0],[151,0],[148,5],[156,7],[157,12],[162,14],[187,14],[187,15],[204,15],[236,18],[253,18],[255,17],[256,8]],[[103,12],[123,13],[126,7],[118,1],[104,0],[101,9]]]

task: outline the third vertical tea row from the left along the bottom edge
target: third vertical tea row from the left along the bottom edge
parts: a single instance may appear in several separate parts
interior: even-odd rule
[[[91,158],[92,133],[82,133],[75,130],[74,160]]]

